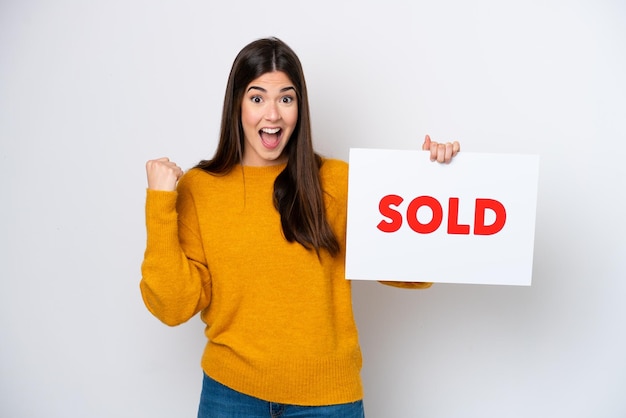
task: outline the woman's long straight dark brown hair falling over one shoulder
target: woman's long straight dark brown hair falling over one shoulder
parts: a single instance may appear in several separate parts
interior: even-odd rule
[[[241,163],[244,133],[241,103],[250,82],[261,75],[282,71],[293,83],[298,98],[298,121],[283,151],[287,166],[274,182],[274,206],[280,213],[285,238],[318,254],[339,253],[339,243],[324,210],[319,170],[321,157],[313,150],[309,99],[302,65],[295,52],[277,38],[254,41],[235,58],[224,96],[220,140],[211,160],[196,166],[212,174],[229,173]]]

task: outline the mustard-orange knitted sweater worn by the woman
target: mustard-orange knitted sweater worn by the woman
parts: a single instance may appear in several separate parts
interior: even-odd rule
[[[342,248],[321,259],[282,235],[272,192],[283,168],[193,169],[177,192],[148,190],[143,299],[169,325],[202,312],[202,367],[226,386],[279,403],[356,401],[361,352],[344,278],[348,166],[325,160],[320,172]]]

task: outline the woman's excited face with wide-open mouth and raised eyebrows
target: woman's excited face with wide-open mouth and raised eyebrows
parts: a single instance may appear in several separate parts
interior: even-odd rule
[[[298,122],[296,90],[285,73],[265,73],[248,84],[241,104],[243,165],[286,162],[283,150]]]

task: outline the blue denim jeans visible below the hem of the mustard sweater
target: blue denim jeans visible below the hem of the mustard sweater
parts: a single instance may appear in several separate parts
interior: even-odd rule
[[[298,406],[244,395],[204,375],[198,418],[364,418],[363,402]]]

